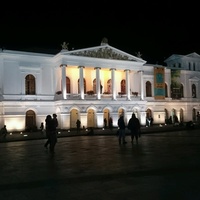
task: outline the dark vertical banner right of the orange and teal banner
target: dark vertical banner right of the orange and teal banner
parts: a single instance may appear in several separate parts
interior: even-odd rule
[[[181,99],[181,70],[171,69],[171,98]]]

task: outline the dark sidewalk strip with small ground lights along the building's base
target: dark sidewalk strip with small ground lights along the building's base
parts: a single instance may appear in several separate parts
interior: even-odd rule
[[[199,126],[195,126],[195,129],[199,129]],[[185,130],[185,126],[173,126],[173,125],[165,125],[159,126],[154,125],[152,127],[142,127],[141,132],[142,134],[148,133],[160,133],[160,132],[173,132],[173,131],[180,131]],[[77,133],[76,130],[59,130],[58,131],[58,138],[60,137],[73,137],[73,136],[86,136],[88,135],[88,131],[82,130],[80,133]],[[94,129],[94,135],[116,135],[117,128],[113,128],[113,130],[109,129]],[[129,135],[129,130],[126,129],[126,135]],[[3,139],[2,136],[0,138],[0,143],[2,142],[14,142],[14,141],[24,141],[24,140],[37,140],[37,139],[45,139],[46,135],[45,132],[41,133],[40,131],[37,132],[15,132],[15,133],[8,133],[6,139]]]

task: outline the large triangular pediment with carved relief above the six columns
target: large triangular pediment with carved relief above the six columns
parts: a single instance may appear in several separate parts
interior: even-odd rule
[[[125,61],[135,61],[135,62],[142,62],[146,63],[145,60],[125,53],[119,49],[116,49],[108,44],[79,49],[79,50],[72,50],[72,51],[61,51],[64,55],[71,55],[71,56],[82,56],[82,57],[90,57],[90,58],[101,58],[101,59],[112,59],[112,60],[125,60]]]

